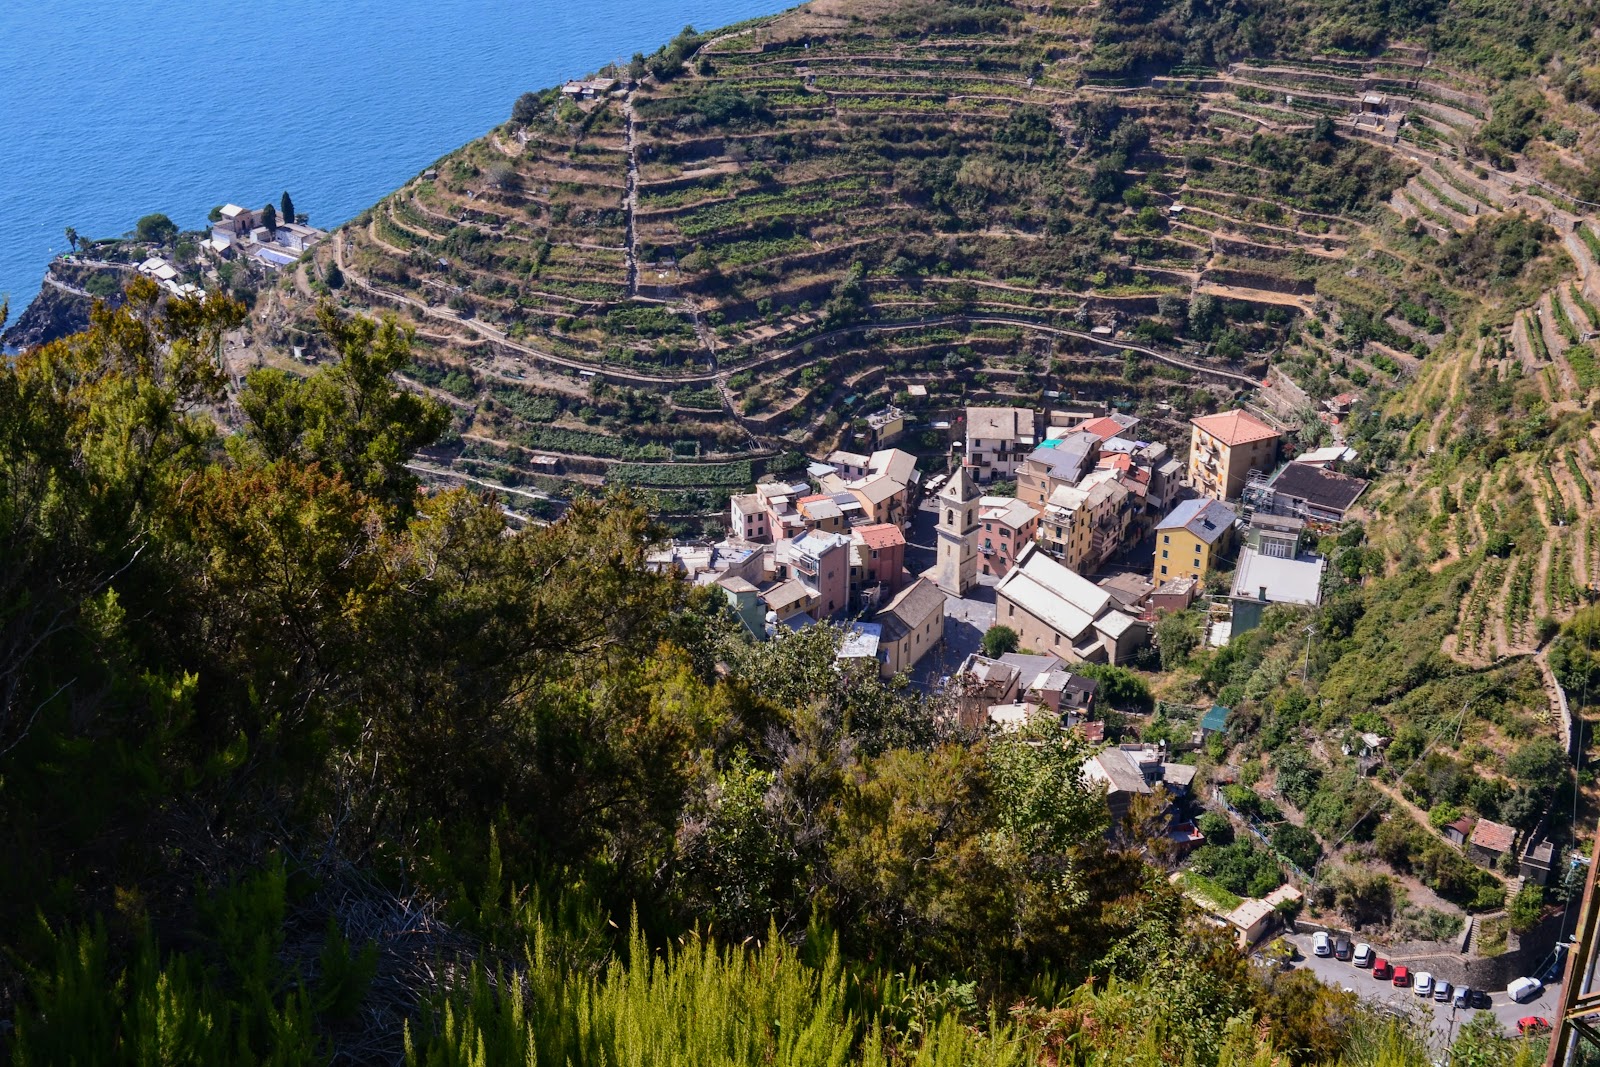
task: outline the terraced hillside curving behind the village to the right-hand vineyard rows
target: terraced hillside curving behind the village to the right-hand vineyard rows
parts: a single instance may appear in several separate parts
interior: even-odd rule
[[[1192,61],[1170,14],[818,0],[686,32],[614,88],[525,96],[267,318],[296,331],[338,266],[458,406],[440,464],[685,517],[890,398],[926,426],[1059,390],[1178,440],[1248,394],[1315,440],[1360,394],[1333,432],[1397,474],[1374,530],[1488,553],[1456,654],[1533,648],[1600,577],[1600,230],[1555,184],[1584,189],[1594,112],[1506,88],[1506,58],[1326,27]]]

